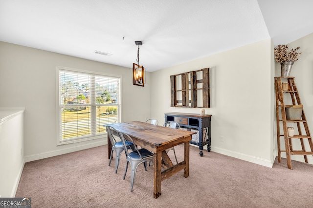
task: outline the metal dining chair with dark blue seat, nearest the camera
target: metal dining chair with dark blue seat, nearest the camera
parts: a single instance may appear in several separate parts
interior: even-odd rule
[[[130,163],[131,171],[132,171],[131,172],[131,192],[133,192],[136,170],[138,166],[141,163],[144,163],[145,165],[145,163],[147,163],[148,161],[153,163],[154,154],[151,151],[144,149],[144,148],[137,149],[136,145],[133,145],[133,146],[129,145],[130,143],[134,144],[134,141],[127,133],[119,132],[119,135],[124,145],[124,148],[125,149],[129,148],[130,150],[132,150],[131,152],[125,151],[127,163],[126,163],[126,168],[125,168],[123,179],[125,180],[128,163]],[[145,166],[145,170],[147,171],[146,166]]]

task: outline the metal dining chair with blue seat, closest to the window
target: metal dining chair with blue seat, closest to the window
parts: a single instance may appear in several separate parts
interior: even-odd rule
[[[119,136],[119,133],[116,129],[114,129],[111,126],[106,126],[106,130],[110,139],[110,142],[112,144],[112,150],[111,150],[111,156],[110,156],[110,161],[109,161],[109,166],[111,165],[111,160],[112,160],[112,155],[113,155],[113,151],[115,151],[115,173],[117,173],[117,168],[118,168],[118,164],[119,164],[119,158],[121,156],[121,153],[123,151],[125,151],[125,147],[122,143],[122,141],[117,142],[114,135],[115,136]],[[129,143],[128,144],[130,147],[134,146],[133,143]]]

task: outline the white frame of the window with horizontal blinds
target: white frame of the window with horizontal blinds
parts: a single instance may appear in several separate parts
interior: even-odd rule
[[[60,83],[59,83],[59,72],[60,71],[67,71],[69,73],[77,73],[77,74],[86,74],[86,75],[91,75],[91,76],[108,76],[112,78],[119,78],[119,97],[117,99],[116,105],[117,105],[117,120],[118,122],[121,122],[122,120],[122,76],[120,75],[112,75],[112,74],[107,74],[107,73],[102,73],[102,72],[94,72],[94,71],[89,71],[89,70],[82,70],[82,69],[75,69],[75,68],[69,68],[69,67],[63,67],[63,66],[56,66],[55,67],[55,80],[56,80],[56,130],[57,130],[57,135],[56,135],[56,145],[64,145],[64,144],[71,144],[71,143],[77,143],[77,142],[84,142],[84,141],[90,141],[90,140],[95,140],[95,139],[103,139],[106,138],[107,132],[103,133],[96,133],[96,134],[91,134],[91,135],[86,135],[82,137],[74,137],[74,138],[68,138],[62,141],[60,135],[62,133],[62,107],[61,107],[61,100],[60,100]],[[90,111],[91,111],[91,106],[96,108],[96,106],[107,106],[105,104],[96,104],[95,102],[90,102]],[[92,122],[92,119],[96,121],[97,117],[94,117],[94,115],[91,114],[90,118],[90,123]],[[91,127],[93,128],[93,127]]]

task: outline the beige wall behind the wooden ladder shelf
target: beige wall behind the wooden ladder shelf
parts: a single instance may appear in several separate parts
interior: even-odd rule
[[[290,76],[294,76],[295,84],[298,88],[298,92],[301,98],[301,103],[304,105],[303,110],[305,112],[309,129],[311,134],[313,132],[313,33],[303,38],[297,39],[289,44],[289,49],[300,46],[299,52],[304,52],[299,56],[299,60],[296,61],[291,69]],[[280,76],[280,64],[275,63],[275,75]],[[291,104],[291,103],[289,103]],[[295,124],[289,123],[288,126],[296,127]],[[304,130],[302,130],[305,132]],[[282,149],[285,149],[284,140],[281,138]],[[297,139],[292,140],[292,146],[294,150],[300,150],[300,142]],[[310,151],[310,146],[307,140],[305,141],[306,151]],[[286,157],[285,153],[282,153],[283,157]],[[291,160],[298,160],[304,162],[302,155],[291,155]],[[312,155],[308,155],[308,161],[313,164]]]

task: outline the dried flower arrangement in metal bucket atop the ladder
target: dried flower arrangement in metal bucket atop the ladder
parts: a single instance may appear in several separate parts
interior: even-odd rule
[[[297,61],[299,55],[303,54],[303,52],[298,52],[298,49],[300,47],[291,49],[290,52],[288,52],[288,47],[289,45],[278,45],[276,48],[274,48],[275,61],[277,62]]]

